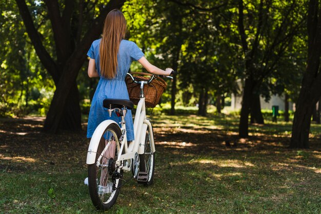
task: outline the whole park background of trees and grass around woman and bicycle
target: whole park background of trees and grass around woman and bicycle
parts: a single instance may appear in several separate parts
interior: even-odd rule
[[[111,212],[319,213],[320,5],[0,1],[0,211],[94,211],[83,179],[98,79],[86,53],[121,8],[126,39],[178,75],[151,116],[155,185],[124,186]],[[277,122],[261,109],[275,96]]]

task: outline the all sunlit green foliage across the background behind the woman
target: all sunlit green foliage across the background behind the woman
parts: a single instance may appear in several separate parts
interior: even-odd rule
[[[157,67],[172,67],[178,71],[177,105],[195,106],[203,92],[208,94],[213,104],[217,94],[236,92],[235,80],[244,79],[248,75],[245,70],[248,53],[242,50],[238,28],[238,3],[232,1],[222,4],[216,0],[181,3],[127,1],[122,8],[128,25],[126,38],[135,41],[148,60]],[[0,116],[46,115],[55,91],[54,82],[31,45],[15,2],[1,1],[0,4],[0,42],[4,44],[0,50]],[[83,25],[86,27],[90,25],[88,20],[97,17],[99,8],[106,2],[85,1],[84,4],[86,16],[83,16]],[[47,7],[41,1],[27,1],[27,5],[44,47],[56,60]],[[59,2],[59,6],[63,9],[64,2]],[[255,44],[256,35],[260,33],[252,61],[253,68],[258,71],[258,76],[272,69],[271,75],[262,79],[258,90],[267,100],[271,94],[284,92],[290,95],[292,101],[297,99],[306,66],[305,11],[306,3],[302,1],[263,2],[262,9],[259,1],[244,1],[244,25],[249,46]],[[262,26],[259,25],[260,12],[263,14]],[[76,11],[71,19],[75,43],[85,33],[76,29],[80,15]],[[296,31],[293,32],[293,29]],[[290,33],[294,33],[293,38],[281,47],[284,49],[280,56],[279,44]],[[276,48],[271,49],[274,43],[277,44]],[[274,63],[276,58],[279,60]],[[88,78],[87,66],[85,62],[77,77],[83,114],[88,113],[98,81]],[[134,62],[131,71],[143,71],[143,68]],[[162,103],[171,100],[172,81],[167,81],[168,90],[162,97]]]

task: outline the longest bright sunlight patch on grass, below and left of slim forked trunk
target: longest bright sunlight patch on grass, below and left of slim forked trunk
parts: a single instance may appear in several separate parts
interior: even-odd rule
[[[217,165],[219,167],[235,167],[235,168],[244,168],[244,167],[253,167],[254,164],[248,161],[240,161],[240,160],[208,160],[208,159],[198,159],[198,160],[191,160],[192,162],[196,163],[210,163],[213,165]]]

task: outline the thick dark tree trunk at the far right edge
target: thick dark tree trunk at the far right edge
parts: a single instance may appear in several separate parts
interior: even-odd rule
[[[308,8],[308,60],[294,114],[291,148],[308,148],[311,116],[321,97],[321,9],[319,1],[310,0]]]

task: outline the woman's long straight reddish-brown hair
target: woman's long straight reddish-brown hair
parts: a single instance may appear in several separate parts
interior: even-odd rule
[[[99,47],[101,75],[107,79],[116,76],[119,45],[126,34],[126,19],[124,14],[114,9],[105,19],[103,37]]]

